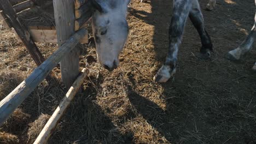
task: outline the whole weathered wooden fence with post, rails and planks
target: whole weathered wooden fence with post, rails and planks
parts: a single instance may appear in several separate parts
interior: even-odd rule
[[[32,37],[33,33],[31,29],[22,25],[17,14],[19,11],[33,7],[33,2],[32,0],[0,0],[0,9],[2,9],[0,10],[0,19],[2,17],[5,25],[15,29],[17,36],[27,47],[34,62],[38,65],[26,80],[22,81],[7,97],[0,101],[0,125],[2,125],[15,109],[33,92],[38,84],[51,73],[51,70],[60,63],[62,82],[67,88],[70,87],[70,89],[67,93],[68,97],[66,100],[63,99],[59,106],[61,107],[59,110],[59,112],[61,111],[61,115],[56,116],[55,113],[48,122],[48,125],[56,125],[56,122],[59,121],[60,117],[63,115],[70,100],[74,97],[89,72],[84,69],[82,75],[78,77],[80,72],[79,49],[77,44],[88,36],[87,30],[83,28],[83,26],[92,15],[90,4],[86,4],[86,0],[75,0],[75,2],[73,0],[53,0],[56,29],[51,29],[54,29],[56,32],[56,43],[59,44],[59,49],[45,60],[37,45],[34,43],[36,37]],[[50,131],[51,130],[53,130],[53,127],[51,127]],[[42,135],[43,137],[49,137],[49,134],[50,133]],[[40,138],[38,138],[38,142],[35,143],[41,143],[42,141],[44,143],[46,142],[45,140],[46,139],[40,140]]]

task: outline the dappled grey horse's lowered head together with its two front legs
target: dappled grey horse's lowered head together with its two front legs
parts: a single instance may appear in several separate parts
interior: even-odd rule
[[[129,28],[126,13],[129,2],[130,0],[91,0],[95,9],[92,16],[92,31],[96,41],[97,58],[102,67],[110,71],[118,67],[119,53],[127,39]],[[154,76],[157,82],[166,82],[176,73],[177,53],[188,17],[199,32],[202,43],[201,56],[209,58],[212,51],[211,38],[203,24],[197,0],[174,0],[172,13],[168,53],[165,63]]]

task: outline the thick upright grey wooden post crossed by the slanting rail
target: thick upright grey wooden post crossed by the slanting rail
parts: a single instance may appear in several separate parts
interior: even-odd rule
[[[74,31],[74,0],[53,0],[58,44],[62,45]],[[61,79],[67,88],[71,87],[79,74],[79,48],[75,47],[60,63]]]

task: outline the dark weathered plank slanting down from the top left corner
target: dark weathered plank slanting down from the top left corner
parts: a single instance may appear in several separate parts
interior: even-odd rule
[[[31,39],[30,33],[27,31],[26,27],[20,23],[10,2],[7,0],[0,0],[0,3],[5,16],[9,18],[8,20],[10,25],[13,26],[22,42],[25,44],[28,52],[30,52],[31,57],[34,59],[34,62],[36,62],[37,65],[43,63],[45,59],[42,53],[38,50],[37,45],[34,44],[34,41]]]

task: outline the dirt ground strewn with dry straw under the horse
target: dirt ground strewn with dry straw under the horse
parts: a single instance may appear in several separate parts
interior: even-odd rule
[[[202,9],[207,1],[200,1]],[[95,44],[80,46],[80,66],[89,68],[78,94],[49,143],[256,143],[256,61],[252,50],[240,62],[224,58],[253,25],[254,1],[217,0],[202,10],[211,35],[210,60],[196,57],[199,35],[188,20],[174,81],[152,78],[165,59],[172,1],[131,2],[129,40],[120,67],[109,73],[96,62]],[[10,29],[0,31],[0,99],[36,67]],[[38,44],[45,57],[55,44]],[[87,49],[87,52],[86,52]],[[54,69],[60,77],[59,67]],[[0,128],[0,143],[33,143],[65,89],[42,82]]]

